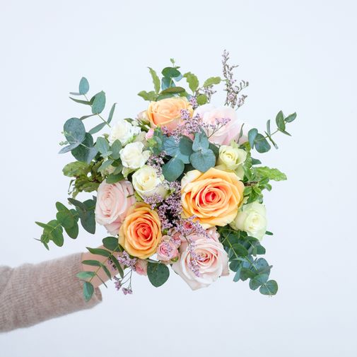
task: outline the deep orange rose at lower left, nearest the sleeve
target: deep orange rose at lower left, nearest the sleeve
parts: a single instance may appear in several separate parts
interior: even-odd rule
[[[131,207],[119,230],[119,245],[134,257],[146,259],[156,253],[161,240],[158,213],[147,204]]]

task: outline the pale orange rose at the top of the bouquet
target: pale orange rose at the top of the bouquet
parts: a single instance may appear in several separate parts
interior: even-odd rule
[[[186,109],[192,115],[192,105],[185,97],[172,97],[151,102],[146,112],[152,127],[168,127],[173,130],[181,120],[181,110]]]

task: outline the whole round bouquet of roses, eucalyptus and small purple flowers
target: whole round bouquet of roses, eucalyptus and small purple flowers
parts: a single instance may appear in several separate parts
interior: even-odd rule
[[[117,289],[132,293],[133,271],[148,276],[153,286],[168,280],[170,269],[193,290],[209,286],[233,272],[233,281],[246,281],[252,290],[275,295],[269,280],[271,265],[260,257],[267,230],[264,190],[271,181],[286,180],[276,168],[263,166],[254,151],[276,146],[273,135],[286,131],[296,114],[276,115],[276,129],[259,132],[242,122],[236,111],[245,103],[246,81],[236,81],[223,52],[223,75],[199,82],[192,72],[182,74],[173,59],[161,71],[148,68],[153,90],[141,91],[148,101],[134,118],[112,124],[115,104],[103,115],[106,100],[100,91],[91,98],[89,84],[81,78],[71,100],[87,107],[88,115],[64,123],[65,141],[59,153],[71,153],[74,162],[63,168],[71,177],[68,204],[56,203],[56,219],[36,222],[43,228],[40,242],[61,247],[64,233],[78,236],[79,222],[95,234],[96,224],[108,236],[103,247],[87,249],[103,257],[86,260],[94,266],[81,271],[83,295],[93,295],[91,281],[103,269]],[[223,106],[213,105],[216,88],[223,87]],[[100,124],[86,129],[88,117]],[[99,134],[102,129],[104,134]],[[78,194],[94,192],[79,200]],[[110,271],[112,269],[112,271]]]

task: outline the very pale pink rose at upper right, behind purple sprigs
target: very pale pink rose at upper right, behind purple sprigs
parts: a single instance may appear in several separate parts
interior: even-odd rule
[[[218,145],[229,145],[230,141],[238,139],[240,128],[242,124],[244,124],[238,119],[235,110],[231,107],[216,108],[211,104],[204,104],[194,111],[194,115],[197,114],[206,124],[216,124],[216,119],[230,119],[224,127],[219,129],[215,134],[212,134],[209,138],[209,141]],[[249,129],[251,128],[247,124],[244,124],[242,129],[243,135],[240,138],[239,144],[243,144],[248,140],[247,134]]]

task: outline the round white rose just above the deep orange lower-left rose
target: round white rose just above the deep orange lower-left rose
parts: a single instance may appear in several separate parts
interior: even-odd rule
[[[132,176],[134,189],[142,198],[153,196],[153,194],[159,194],[164,198],[167,193],[163,185],[164,180],[163,175],[158,176],[156,169],[148,165],[139,168]]]

